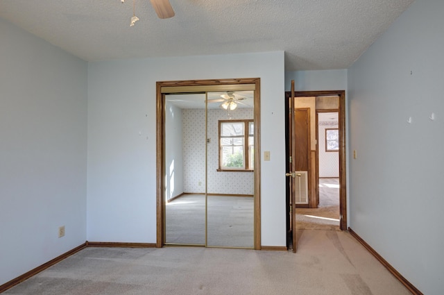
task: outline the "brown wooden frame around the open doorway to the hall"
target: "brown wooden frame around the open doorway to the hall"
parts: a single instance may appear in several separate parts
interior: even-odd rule
[[[345,90],[322,90],[322,91],[295,91],[294,97],[309,96],[339,96],[339,228],[347,230],[347,174],[346,174],[346,146],[345,146]],[[285,92],[285,101],[289,100],[291,92]],[[286,108],[287,103],[286,103]],[[287,112],[286,112],[287,115]],[[286,121],[287,125],[287,121]],[[288,136],[286,134],[286,136]],[[288,147],[286,146],[286,149]],[[316,149],[318,146],[316,145]],[[288,162],[288,161],[286,161]],[[316,163],[316,166],[318,163]],[[288,192],[287,185],[287,192]],[[289,214],[289,203],[286,204],[286,214]],[[288,229],[288,228],[287,228]],[[288,245],[288,242],[287,242]]]

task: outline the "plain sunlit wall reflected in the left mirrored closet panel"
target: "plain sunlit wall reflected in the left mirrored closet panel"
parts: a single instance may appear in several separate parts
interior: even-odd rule
[[[165,196],[167,199],[184,192],[182,152],[182,110],[165,103]]]

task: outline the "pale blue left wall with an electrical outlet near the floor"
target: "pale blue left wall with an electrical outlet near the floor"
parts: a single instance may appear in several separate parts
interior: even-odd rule
[[[85,243],[87,63],[3,19],[0,40],[2,285]]]

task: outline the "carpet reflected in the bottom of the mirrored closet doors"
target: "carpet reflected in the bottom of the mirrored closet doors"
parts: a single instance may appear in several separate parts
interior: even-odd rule
[[[248,196],[185,194],[167,203],[165,210],[167,244],[253,248],[254,200]],[[206,217],[206,219],[205,219]]]

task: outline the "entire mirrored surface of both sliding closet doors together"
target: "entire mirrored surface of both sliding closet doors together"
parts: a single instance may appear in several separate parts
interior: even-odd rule
[[[253,248],[254,92],[165,96],[166,244]]]

